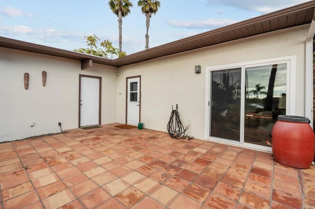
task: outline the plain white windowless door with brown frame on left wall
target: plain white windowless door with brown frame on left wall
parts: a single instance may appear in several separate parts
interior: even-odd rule
[[[80,75],[80,127],[100,124],[100,83],[99,77]]]

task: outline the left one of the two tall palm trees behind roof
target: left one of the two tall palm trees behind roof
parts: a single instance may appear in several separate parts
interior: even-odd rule
[[[108,5],[112,12],[118,17],[119,51],[122,52],[123,17],[126,17],[130,13],[130,7],[133,5],[129,0],[109,0]]]

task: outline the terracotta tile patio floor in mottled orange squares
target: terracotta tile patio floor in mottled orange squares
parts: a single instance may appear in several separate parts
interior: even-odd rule
[[[1,208],[315,208],[315,166],[115,125],[0,144]]]

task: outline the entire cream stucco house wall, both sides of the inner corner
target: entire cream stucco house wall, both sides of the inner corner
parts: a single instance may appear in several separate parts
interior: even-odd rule
[[[0,141],[78,128],[79,74],[102,77],[101,124],[125,123],[126,78],[141,76],[141,122],[144,128],[167,131],[176,104],[188,134],[205,137],[207,67],[296,56],[295,114],[305,114],[305,40],[309,26],[223,43],[158,58],[119,69],[93,64],[81,70],[76,60],[0,48]],[[194,66],[201,65],[201,74]],[[41,72],[47,72],[42,86]],[[23,75],[30,74],[24,89]],[[35,126],[31,127],[34,122]]]

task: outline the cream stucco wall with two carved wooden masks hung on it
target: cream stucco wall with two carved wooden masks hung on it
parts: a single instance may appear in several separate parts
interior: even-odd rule
[[[46,86],[42,71],[47,72]],[[102,77],[101,123],[116,122],[116,68],[0,48],[0,141],[78,128],[79,74]],[[29,89],[24,89],[29,73]],[[34,122],[35,126],[31,127]]]

